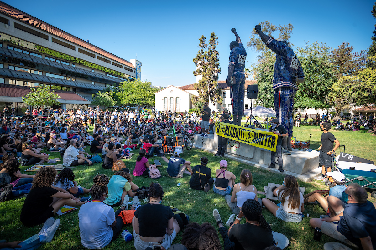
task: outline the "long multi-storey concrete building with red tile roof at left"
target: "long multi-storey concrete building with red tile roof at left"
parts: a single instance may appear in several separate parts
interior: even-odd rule
[[[87,108],[109,86],[141,78],[142,63],[127,61],[21,10],[0,2],[0,109],[15,107],[22,96],[47,85],[62,108]],[[56,107],[57,108],[57,107]]]

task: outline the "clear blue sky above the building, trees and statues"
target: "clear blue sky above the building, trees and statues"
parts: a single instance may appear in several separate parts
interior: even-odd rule
[[[201,35],[219,37],[217,47],[224,80],[229,43],[236,28],[243,43],[258,22],[294,26],[290,42],[324,42],[338,48],[349,42],[354,51],[371,44],[376,19],[374,0],[360,1],[84,1],[3,0],[126,60],[143,63],[141,78],[153,85],[182,86],[196,81],[193,71]],[[246,67],[256,59],[247,49]]]

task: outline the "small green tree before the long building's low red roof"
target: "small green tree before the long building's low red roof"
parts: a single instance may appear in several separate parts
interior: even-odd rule
[[[50,106],[59,105],[58,94],[50,90],[47,86],[30,88],[31,92],[22,97],[22,102],[30,106]]]

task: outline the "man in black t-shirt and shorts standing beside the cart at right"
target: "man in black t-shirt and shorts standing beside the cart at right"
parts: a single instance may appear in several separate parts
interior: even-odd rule
[[[321,130],[324,132],[321,133],[321,145],[318,147],[320,150],[320,165],[322,166],[321,176],[315,177],[315,180],[326,180],[326,172],[331,172],[332,170],[332,153],[340,146],[340,142],[334,137],[334,135],[329,132],[329,129],[332,128],[330,123],[321,123]],[[333,142],[335,146],[333,149]]]

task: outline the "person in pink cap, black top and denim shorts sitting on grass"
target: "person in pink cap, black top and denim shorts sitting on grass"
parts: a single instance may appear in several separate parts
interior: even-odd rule
[[[214,193],[218,195],[229,195],[231,189],[235,186],[236,176],[227,170],[227,161],[219,162],[219,169],[215,170],[215,183],[213,185]]]

